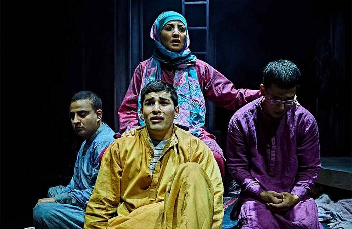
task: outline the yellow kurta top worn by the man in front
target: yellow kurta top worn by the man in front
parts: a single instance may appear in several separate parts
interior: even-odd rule
[[[108,147],[87,205],[84,228],[106,228],[108,220],[115,216],[128,216],[139,207],[164,201],[170,178],[186,162],[198,163],[209,177],[214,191],[212,227],[221,228],[223,184],[208,146],[174,126],[153,176],[149,169],[152,159],[153,149],[145,127],[138,128],[135,136],[119,138]]]

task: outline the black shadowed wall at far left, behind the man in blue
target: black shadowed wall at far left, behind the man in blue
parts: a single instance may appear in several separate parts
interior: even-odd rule
[[[70,99],[91,90],[114,127],[113,1],[5,4],[2,75],[2,228],[32,224],[49,187],[67,185],[82,139]]]

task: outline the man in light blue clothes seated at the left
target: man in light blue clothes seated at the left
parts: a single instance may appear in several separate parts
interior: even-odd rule
[[[49,188],[48,198],[39,199],[33,209],[36,228],[82,228],[85,208],[99,171],[100,153],[114,141],[114,131],[102,122],[102,101],[91,91],[76,93],[71,99],[72,127],[82,136],[74,175],[66,186]]]

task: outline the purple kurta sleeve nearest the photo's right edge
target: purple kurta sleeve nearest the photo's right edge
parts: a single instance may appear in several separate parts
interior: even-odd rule
[[[314,117],[306,117],[297,147],[298,173],[291,193],[301,199],[314,185],[321,170],[318,126]]]

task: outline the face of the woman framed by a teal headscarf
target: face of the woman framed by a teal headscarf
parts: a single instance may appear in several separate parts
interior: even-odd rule
[[[160,33],[161,44],[172,52],[180,52],[186,40],[185,25],[173,20],[165,24]]]

